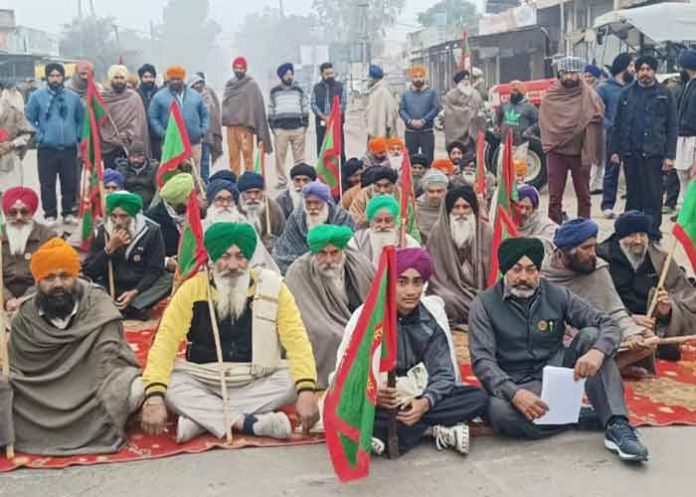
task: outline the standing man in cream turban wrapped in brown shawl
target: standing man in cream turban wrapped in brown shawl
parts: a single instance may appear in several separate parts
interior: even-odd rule
[[[108,118],[101,129],[104,167],[116,168],[116,159],[128,157],[130,148],[138,145],[150,156],[150,135],[147,114],[140,94],[128,88],[128,69],[109,68],[109,86],[102,92]]]

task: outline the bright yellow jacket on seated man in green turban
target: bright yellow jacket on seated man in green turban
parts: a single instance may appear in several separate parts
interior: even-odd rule
[[[256,293],[256,278],[257,272],[252,269],[249,296],[254,296]],[[212,288],[212,293],[214,300],[217,296],[215,288]],[[164,394],[167,391],[177,353],[181,343],[186,340],[186,335],[191,327],[193,306],[196,302],[206,299],[205,273],[200,273],[186,281],[174,294],[164,311],[162,322],[157,335],[155,335],[155,341],[147,357],[147,364],[143,372],[146,396]],[[295,298],[285,283],[281,284],[278,295],[276,329],[280,344],[285,349],[290,363],[290,374],[298,391],[315,389],[317,370],[312,345],[295,303]]]

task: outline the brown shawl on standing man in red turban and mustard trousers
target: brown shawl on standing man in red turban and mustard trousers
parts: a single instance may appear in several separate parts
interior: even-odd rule
[[[266,146],[266,153],[273,152],[271,132],[266,118],[266,104],[259,85],[247,76],[242,80],[232,78],[225,85],[222,99],[222,125],[251,128],[259,141]]]

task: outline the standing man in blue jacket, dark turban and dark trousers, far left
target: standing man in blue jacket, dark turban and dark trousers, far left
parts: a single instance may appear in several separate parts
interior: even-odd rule
[[[56,179],[60,178],[61,215],[66,224],[77,224],[77,145],[82,133],[84,106],[77,93],[67,90],[65,68],[46,64],[47,86],[35,91],[26,108],[27,120],[36,128],[39,183],[45,225],[58,224]]]

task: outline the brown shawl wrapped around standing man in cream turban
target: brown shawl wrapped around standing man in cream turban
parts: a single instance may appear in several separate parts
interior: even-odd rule
[[[126,88],[122,93],[117,93],[109,87],[102,92],[102,98],[106,104],[106,110],[111,116],[111,119],[107,118],[104,121],[101,129],[104,152],[109,152],[117,147],[123,147],[129,151],[134,145],[139,145],[144,147],[147,157],[149,157],[150,136],[147,115],[140,94],[130,88]]]

